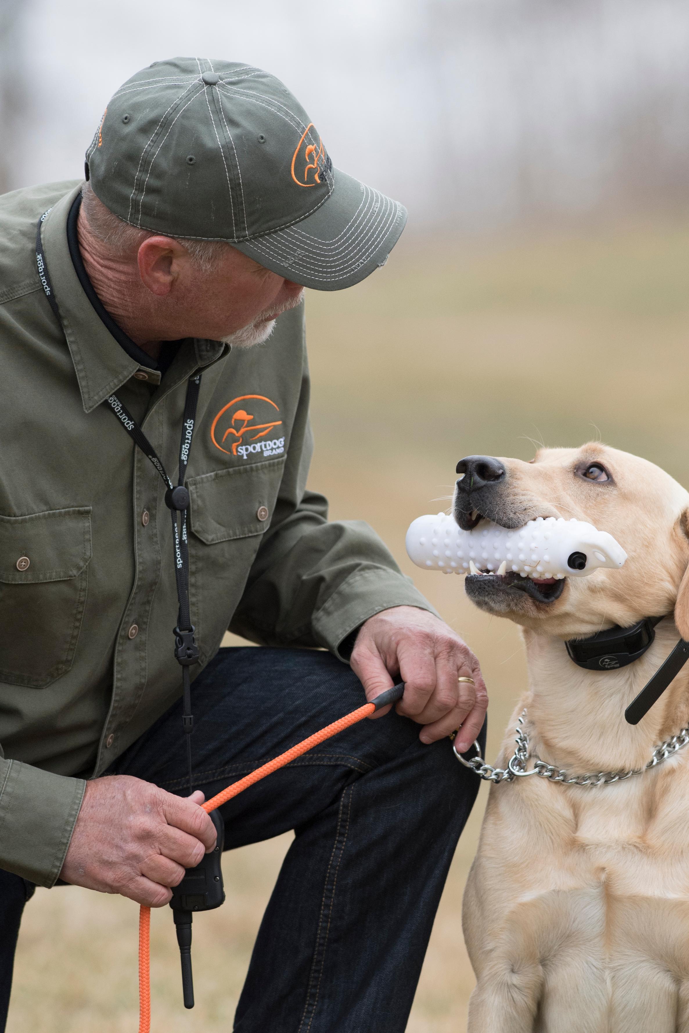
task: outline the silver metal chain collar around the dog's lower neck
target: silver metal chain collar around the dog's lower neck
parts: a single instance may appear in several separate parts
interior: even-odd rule
[[[477,755],[472,757],[471,760],[465,760],[457,752],[455,746],[452,746],[455,756],[460,763],[463,763],[465,768],[471,768],[472,771],[476,772],[480,778],[486,779],[487,782],[513,782],[515,778],[540,775],[541,778],[547,778],[551,782],[562,782],[563,785],[583,785],[589,787],[594,785],[610,785],[613,782],[622,782],[626,778],[631,778],[632,775],[641,775],[644,772],[649,771],[650,768],[655,768],[656,764],[660,764],[663,760],[667,760],[668,757],[674,756],[678,750],[681,750],[689,743],[689,727],[682,728],[677,735],[666,739],[664,743],[660,743],[659,746],[654,748],[648,764],[645,764],[644,768],[630,768],[628,771],[569,775],[563,769],[556,768],[555,764],[547,764],[544,760],[539,760],[538,757],[534,757],[533,768],[527,771],[529,737],[524,730],[526,716],[527,712],[525,709],[522,711],[520,719],[516,722],[516,747],[507,761],[506,768],[493,768],[492,764],[487,764],[481,756],[478,743],[474,743]]]

